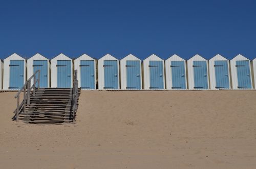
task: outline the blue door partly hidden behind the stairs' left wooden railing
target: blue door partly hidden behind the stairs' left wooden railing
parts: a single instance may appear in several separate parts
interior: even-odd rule
[[[48,61],[47,60],[34,60],[33,61],[33,71],[34,73],[40,70],[40,86],[48,87]],[[38,73],[36,74],[37,79]],[[37,86],[37,85],[36,85]]]

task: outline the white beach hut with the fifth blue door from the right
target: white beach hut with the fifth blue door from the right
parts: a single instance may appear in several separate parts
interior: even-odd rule
[[[144,89],[164,89],[164,61],[156,55],[143,60]]]

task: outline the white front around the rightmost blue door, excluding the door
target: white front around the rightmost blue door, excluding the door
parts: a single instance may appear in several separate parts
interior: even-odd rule
[[[231,69],[231,79],[232,79],[232,88],[238,89],[238,75],[237,75],[237,67],[236,67],[236,61],[249,61],[249,68],[250,68],[250,79],[251,79],[251,64],[250,60],[244,57],[243,55],[238,55],[230,60],[230,69]],[[252,79],[251,79],[251,87],[252,87]]]

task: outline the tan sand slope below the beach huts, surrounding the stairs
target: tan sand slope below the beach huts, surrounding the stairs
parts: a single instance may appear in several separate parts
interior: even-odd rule
[[[255,168],[256,91],[82,91],[75,125],[11,121],[0,168]]]

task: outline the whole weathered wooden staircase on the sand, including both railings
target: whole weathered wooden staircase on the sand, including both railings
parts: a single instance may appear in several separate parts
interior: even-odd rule
[[[81,89],[78,89],[77,71],[75,70],[73,88],[39,88],[39,79],[35,79],[35,74],[15,96],[17,108],[14,111],[13,120],[16,122],[22,120],[29,124],[74,123],[81,92]],[[34,78],[34,84],[31,86],[32,78]],[[37,88],[36,83],[38,83]],[[24,98],[19,104],[19,94],[22,91]]]

